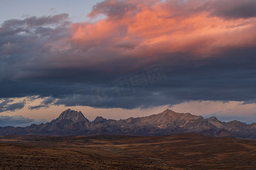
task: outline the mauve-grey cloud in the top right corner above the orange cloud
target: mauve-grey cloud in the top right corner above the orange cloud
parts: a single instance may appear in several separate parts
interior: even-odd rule
[[[173,14],[159,16],[160,18],[183,17],[198,12],[208,12],[209,15],[225,19],[252,18],[256,16],[256,1],[254,0],[167,0],[164,1],[164,5],[173,11]]]

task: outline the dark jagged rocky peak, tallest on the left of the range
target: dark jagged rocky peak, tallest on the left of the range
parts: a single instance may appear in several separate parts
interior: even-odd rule
[[[72,111],[71,109],[67,109],[66,111],[62,112],[56,120],[72,120],[73,122],[89,121],[84,117],[82,112]]]

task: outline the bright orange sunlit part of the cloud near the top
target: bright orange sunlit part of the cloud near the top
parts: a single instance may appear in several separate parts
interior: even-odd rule
[[[209,6],[209,2],[204,3]],[[202,10],[202,6],[201,1],[101,2],[89,16],[105,14],[106,18],[73,24],[71,40],[86,49],[108,46],[133,57],[175,52],[205,57],[256,44],[255,17],[226,19]]]

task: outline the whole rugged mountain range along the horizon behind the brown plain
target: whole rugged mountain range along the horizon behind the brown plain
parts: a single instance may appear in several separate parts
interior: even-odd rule
[[[198,133],[215,137],[256,139],[256,123],[240,121],[221,122],[216,117],[203,118],[190,113],[176,113],[167,109],[151,116],[106,120],[96,117],[89,121],[81,112],[67,109],[58,118],[46,124],[32,124],[26,128],[0,127],[0,135],[170,135]]]

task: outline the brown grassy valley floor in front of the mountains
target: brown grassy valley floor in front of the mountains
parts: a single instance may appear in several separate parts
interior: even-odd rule
[[[0,169],[256,169],[256,140],[175,134],[0,137]]]

